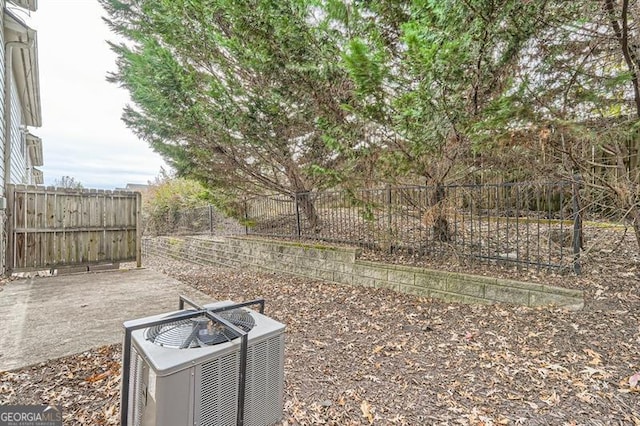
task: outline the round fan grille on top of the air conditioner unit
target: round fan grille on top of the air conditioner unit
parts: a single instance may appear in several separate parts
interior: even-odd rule
[[[251,314],[244,309],[233,309],[217,315],[245,332],[255,325]],[[237,337],[232,330],[204,315],[149,327],[145,332],[145,338],[157,345],[180,349],[217,345]]]

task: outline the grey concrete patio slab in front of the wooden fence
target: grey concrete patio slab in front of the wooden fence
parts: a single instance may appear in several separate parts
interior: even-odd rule
[[[0,371],[122,341],[122,323],[211,297],[148,269],[19,279],[0,287]]]

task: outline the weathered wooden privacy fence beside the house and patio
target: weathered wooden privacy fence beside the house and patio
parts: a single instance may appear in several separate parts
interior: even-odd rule
[[[11,185],[7,195],[8,272],[140,266],[140,193]]]

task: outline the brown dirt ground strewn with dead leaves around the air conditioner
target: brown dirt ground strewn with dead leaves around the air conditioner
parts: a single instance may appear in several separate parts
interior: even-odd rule
[[[144,263],[211,300],[267,300],[287,326],[283,425],[640,425],[637,262],[519,277],[584,289],[578,312]],[[0,373],[0,404],[60,404],[65,424],[118,424],[119,363],[113,345]]]

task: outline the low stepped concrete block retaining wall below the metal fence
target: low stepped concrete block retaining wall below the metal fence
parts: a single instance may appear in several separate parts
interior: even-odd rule
[[[293,274],[341,284],[388,288],[461,303],[555,305],[581,309],[580,290],[494,277],[359,260],[359,249],[254,237],[158,237],[143,241],[144,254],[202,265]]]

